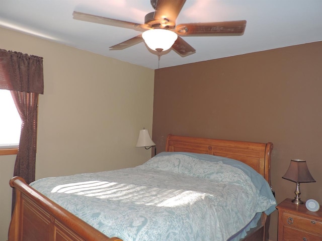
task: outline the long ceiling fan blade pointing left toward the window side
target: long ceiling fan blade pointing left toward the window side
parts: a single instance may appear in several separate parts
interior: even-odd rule
[[[134,29],[142,32],[147,29],[150,29],[150,27],[148,27],[145,24],[131,23],[131,22],[126,22],[122,20],[110,19],[110,18],[100,17],[96,15],[91,15],[91,14],[84,14],[84,13],[75,12],[75,11],[72,13],[72,15],[73,15],[73,19],[97,23],[97,24],[105,24],[109,26]]]

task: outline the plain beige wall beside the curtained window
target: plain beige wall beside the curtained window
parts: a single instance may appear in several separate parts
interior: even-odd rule
[[[151,133],[154,70],[0,28],[0,48],[44,58],[36,179],[136,166]],[[7,240],[15,156],[0,156],[0,240]]]

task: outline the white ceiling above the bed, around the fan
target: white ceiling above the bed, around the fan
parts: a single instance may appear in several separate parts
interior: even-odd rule
[[[0,0],[0,26],[158,68],[157,55],[143,42],[109,50],[141,32],[74,20],[73,11],[144,23],[144,16],[153,9],[149,0]],[[187,0],[176,23],[235,20],[247,20],[243,36],[183,37],[196,53],[181,57],[172,50],[161,56],[159,67],[322,41],[322,0]]]

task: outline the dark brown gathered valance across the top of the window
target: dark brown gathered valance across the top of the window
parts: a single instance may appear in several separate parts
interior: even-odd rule
[[[0,49],[0,89],[43,94],[43,58]]]

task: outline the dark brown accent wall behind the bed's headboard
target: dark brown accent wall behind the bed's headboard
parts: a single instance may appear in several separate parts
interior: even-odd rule
[[[304,159],[316,183],[301,198],[322,204],[322,42],[155,70],[153,141],[168,134],[273,142],[277,201],[293,198],[282,179],[291,159]],[[277,240],[277,211],[270,239]]]

